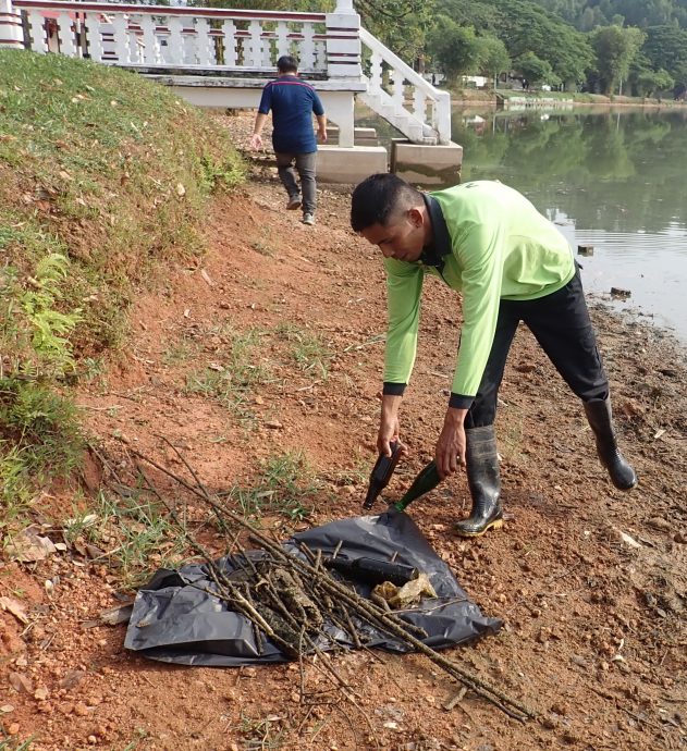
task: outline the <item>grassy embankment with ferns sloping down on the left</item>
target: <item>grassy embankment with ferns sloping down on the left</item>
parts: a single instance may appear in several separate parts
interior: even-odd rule
[[[203,253],[211,194],[243,175],[228,130],[170,89],[0,51],[0,526],[73,472],[74,384],[124,346],[140,290]]]

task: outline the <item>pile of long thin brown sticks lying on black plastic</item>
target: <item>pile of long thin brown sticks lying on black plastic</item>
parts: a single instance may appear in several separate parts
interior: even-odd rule
[[[174,446],[172,448],[176,451]],[[328,621],[333,624],[346,635],[351,643],[360,649],[367,649],[363,633],[371,627],[377,633],[382,632],[397,640],[408,651],[426,655],[465,689],[489,701],[508,716],[522,722],[537,717],[538,713],[533,709],[454,660],[427,647],[422,642],[427,633],[421,628],[407,623],[381,604],[360,596],[353,587],[332,575],[323,565],[320,550],[314,551],[303,544],[300,555],[285,550],[279,541],[270,539],[226,507],[218,496],[207,491],[193,467],[179,452],[177,455],[193,476],[195,484],[139,452],[132,450],[132,453],[203,498],[221,521],[223,529],[235,530],[233,534],[228,534],[231,568],[226,568],[188,532],[186,525],[182,524],[171,504],[158,493],[139,463],[138,467],[148,489],[167,506],[188,545],[205,559],[214,584],[208,593],[226,602],[232,611],[241,613],[253,624],[258,651],[263,649],[267,638],[292,660],[302,661],[306,655],[318,655],[334,680],[342,688],[348,689],[324,653],[324,650],[340,648],[327,633],[324,626]],[[238,543],[240,535],[245,537],[246,532],[253,546],[250,552]],[[464,691],[461,695],[464,695]]]

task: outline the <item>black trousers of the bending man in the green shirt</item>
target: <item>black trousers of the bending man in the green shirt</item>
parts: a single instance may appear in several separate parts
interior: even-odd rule
[[[609,396],[609,380],[585,303],[579,268],[576,268],[575,276],[552,295],[536,300],[501,300],[491,353],[465,419],[466,428],[493,423],[506,357],[520,321],[535,334],[556,370],[582,402]]]

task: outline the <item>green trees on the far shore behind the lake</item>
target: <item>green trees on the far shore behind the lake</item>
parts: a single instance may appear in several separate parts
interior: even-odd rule
[[[334,0],[189,4],[331,11]],[[369,32],[417,69],[531,86],[651,96],[687,88],[685,0],[355,0]]]

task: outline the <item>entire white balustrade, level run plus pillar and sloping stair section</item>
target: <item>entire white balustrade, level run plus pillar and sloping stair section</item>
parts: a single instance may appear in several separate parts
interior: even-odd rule
[[[368,75],[363,74],[363,45]],[[333,13],[0,0],[1,47],[90,58],[152,77],[184,77],[179,85],[186,86],[199,86],[208,76],[243,85],[231,81],[273,75],[278,58],[292,54],[303,73],[328,82],[321,86],[332,97],[339,93],[329,107],[339,110],[340,127],[348,134],[345,145],[353,146],[353,98],[363,87],[360,98],[413,143],[451,141],[449,93],[361,28],[352,0],[338,0]]]

